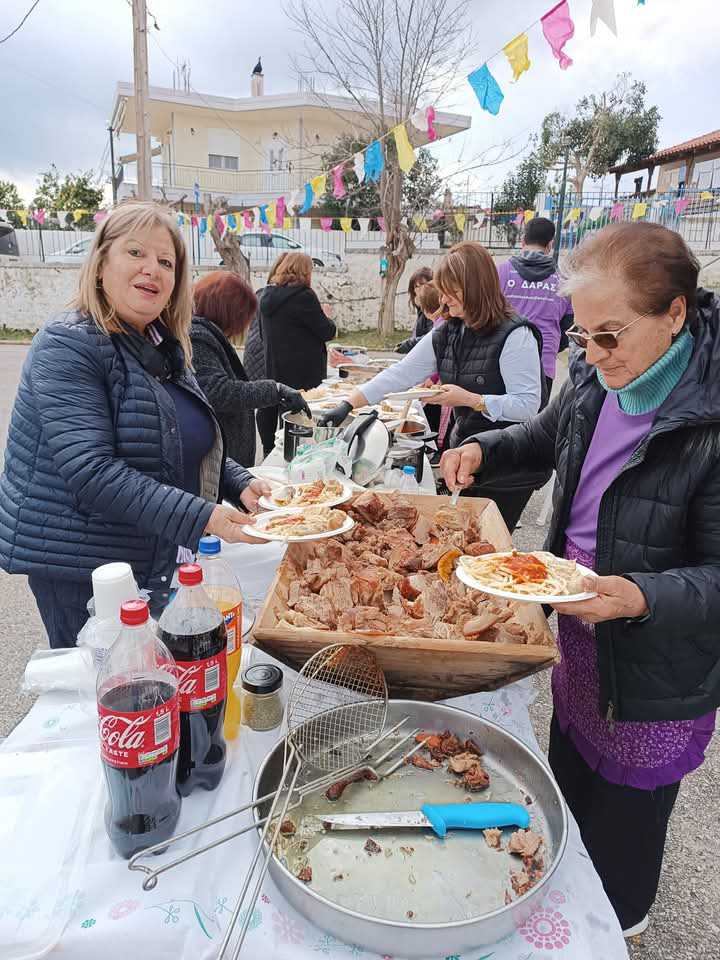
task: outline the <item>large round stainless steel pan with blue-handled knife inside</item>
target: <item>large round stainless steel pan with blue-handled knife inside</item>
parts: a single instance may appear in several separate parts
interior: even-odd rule
[[[390,702],[388,712],[388,725],[391,725],[402,717],[409,717],[410,723],[421,727],[424,730],[445,730],[449,729],[459,737],[472,736],[480,744],[484,751],[484,761],[492,778],[497,778],[505,784],[506,796],[500,798],[495,795],[490,799],[514,799],[519,800],[527,796],[531,803],[528,807],[533,818],[533,825],[542,833],[544,838],[545,852],[545,874],[542,879],[524,896],[515,898],[513,902],[506,906],[494,906],[502,902],[503,885],[509,886],[507,876],[507,865],[503,859],[504,854],[496,851],[489,851],[489,856],[484,855],[478,858],[476,862],[468,862],[464,855],[454,862],[447,861],[447,858],[441,854],[447,853],[449,845],[443,851],[439,847],[432,848],[435,852],[430,855],[428,860],[425,855],[425,862],[431,864],[431,872],[436,877],[436,889],[452,893],[456,890],[460,899],[465,896],[465,889],[469,877],[472,882],[481,891],[483,896],[491,898],[492,908],[481,910],[477,915],[466,916],[460,920],[450,922],[422,922],[422,917],[418,914],[416,919],[390,920],[382,918],[367,909],[368,904],[377,901],[380,904],[378,913],[382,913],[389,897],[393,896],[393,889],[396,887],[397,879],[397,861],[400,858],[393,858],[382,862],[382,858],[377,858],[377,887],[375,890],[365,889],[363,895],[359,898],[363,905],[359,908],[353,908],[351,905],[340,904],[337,899],[333,899],[334,889],[330,895],[324,895],[326,891],[313,889],[315,884],[306,885],[298,880],[293,872],[286,867],[277,857],[273,857],[270,865],[270,873],[273,881],[283,896],[312,923],[323,930],[327,930],[333,936],[347,943],[358,944],[359,946],[373,950],[380,954],[390,954],[397,957],[406,958],[437,958],[438,956],[447,956],[448,954],[460,953],[474,950],[478,947],[495,943],[504,936],[512,933],[518,924],[524,922],[530,914],[539,906],[547,885],[555,872],[565,851],[567,843],[567,814],[565,804],[562,800],[558,787],[556,786],[548,768],[543,762],[517,737],[503,730],[496,724],[477,717],[465,710],[459,710],[456,707],[448,707],[442,704],[418,703],[410,700],[393,700]],[[266,757],[262,763],[255,778],[253,796],[254,799],[265,795],[274,789],[280,776],[283,762],[282,744],[278,744],[273,751]],[[408,774],[410,769],[408,769]],[[422,771],[418,771],[422,773]],[[412,784],[417,783],[408,779],[407,785],[403,787],[405,781],[402,780],[405,771],[394,774],[390,780],[399,776],[401,779],[395,781],[394,791],[399,794],[395,799],[396,809],[417,809],[422,800],[412,797]],[[389,782],[389,781],[387,781]],[[366,787],[352,788],[356,790],[367,789]],[[514,792],[514,796],[512,793]],[[403,796],[403,793],[407,794]],[[355,793],[355,802],[364,802],[362,809],[373,809],[372,801],[368,803],[367,795]],[[457,799],[462,801],[463,795],[459,794]],[[483,795],[474,795],[473,799],[483,799]],[[385,801],[383,801],[385,802]],[[352,798],[348,795],[347,801],[343,798],[343,808],[345,811],[352,810]],[[337,812],[341,812],[340,807],[335,807]],[[383,807],[375,809],[383,809]],[[256,812],[256,816],[259,814]],[[361,836],[360,843],[366,835]],[[383,843],[382,834],[374,836]],[[333,833],[333,846],[340,842],[335,839],[337,834]],[[425,843],[426,848],[431,844],[425,841],[419,834],[415,834],[417,839],[412,842],[415,846]],[[432,841],[432,837],[429,838]],[[484,838],[476,838],[483,847],[486,847]],[[445,844],[445,841],[436,841]],[[400,848],[404,849],[404,848]],[[461,850],[461,847],[457,848]],[[487,854],[485,851],[485,854]],[[333,850],[337,853],[337,850]],[[425,853],[425,850],[422,851]],[[478,848],[478,853],[480,849]],[[492,858],[496,858],[493,860]],[[445,865],[442,869],[436,868],[436,865],[445,859]],[[355,858],[357,862],[357,857]],[[515,869],[521,869],[520,861]],[[354,867],[353,867],[354,869]],[[407,874],[407,866],[404,868]],[[485,872],[484,872],[485,871]],[[502,873],[502,875],[501,875]],[[322,886],[322,884],[320,884]],[[335,884],[335,887],[338,885]]]

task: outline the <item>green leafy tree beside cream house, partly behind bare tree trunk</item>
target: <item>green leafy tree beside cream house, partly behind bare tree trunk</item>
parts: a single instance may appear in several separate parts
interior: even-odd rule
[[[332,170],[342,160],[367,146],[367,141],[355,140],[345,134],[338,138],[331,151],[323,154],[323,170]],[[402,186],[402,205],[409,215],[426,213],[437,205],[437,196],[442,180],[437,175],[438,161],[424,147],[415,151],[415,165],[405,174]],[[370,180],[358,183],[352,164],[348,163],[343,173],[347,195],[338,199],[333,194],[332,175],[320,204],[322,217],[373,217],[380,213],[378,184]]]

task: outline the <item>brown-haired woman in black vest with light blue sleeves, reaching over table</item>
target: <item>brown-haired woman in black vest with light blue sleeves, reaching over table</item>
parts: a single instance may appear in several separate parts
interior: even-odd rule
[[[428,402],[454,408],[449,447],[472,434],[528,420],[547,402],[542,337],[527,320],[513,316],[487,250],[470,241],[456,244],[435,271],[433,283],[447,321],[399,363],[354,390],[348,402],[330,410],[322,422],[342,423],[354,407],[378,403],[388,393],[407,390],[434,374],[444,389]],[[494,486],[476,485],[469,492],[495,500],[512,530],[532,491],[549,476],[543,468],[505,477]]]

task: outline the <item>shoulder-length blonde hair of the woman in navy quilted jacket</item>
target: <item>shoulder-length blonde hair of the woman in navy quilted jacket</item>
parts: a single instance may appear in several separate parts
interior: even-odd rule
[[[115,207],[95,231],[87,259],[80,271],[78,292],[70,306],[92,317],[98,327],[110,335],[123,333],[122,321],[105,294],[100,272],[107,259],[110,245],[134,230],[152,230],[164,227],[170,234],[175,250],[175,285],[170,299],[160,313],[165,326],[179,340],[185,352],[185,363],[190,366],[190,324],[192,322],[192,289],[187,249],[175,220],[156,203],[127,200]]]

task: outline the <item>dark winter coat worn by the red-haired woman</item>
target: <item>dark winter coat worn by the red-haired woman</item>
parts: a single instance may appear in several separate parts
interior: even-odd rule
[[[274,380],[248,381],[237,350],[211,320],[193,317],[190,328],[193,367],[225,434],[227,455],[255,464],[255,410],[277,405]]]

